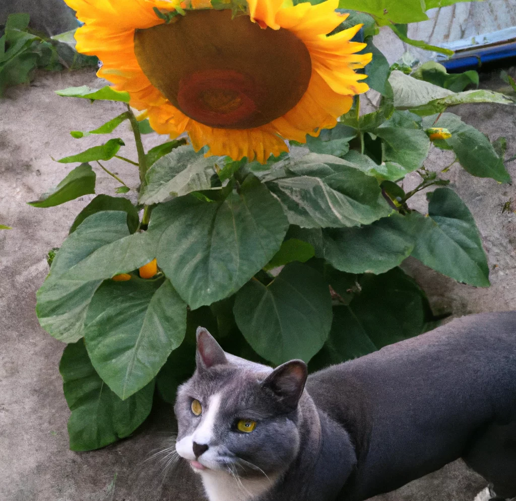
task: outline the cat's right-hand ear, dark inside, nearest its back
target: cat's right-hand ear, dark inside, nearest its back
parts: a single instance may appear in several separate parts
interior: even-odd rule
[[[294,410],[307,382],[307,364],[302,360],[291,360],[279,365],[263,381],[264,388],[271,389],[282,405]]]

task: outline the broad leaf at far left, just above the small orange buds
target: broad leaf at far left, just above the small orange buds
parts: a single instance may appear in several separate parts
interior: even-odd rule
[[[140,245],[128,245],[127,237],[142,241],[144,236],[138,233],[130,236],[126,220],[127,214],[122,211],[97,212],[86,218],[63,242],[49,275],[36,294],[39,323],[56,339],[74,343],[83,337],[88,306],[104,278],[134,270],[137,264],[141,266],[153,259],[154,256],[148,258],[138,250]],[[121,246],[121,241],[125,245]],[[102,253],[105,248],[107,253],[92,258],[95,252]],[[144,257],[135,260],[135,255],[138,257],[140,253]],[[133,268],[124,265],[127,259],[133,260],[130,263]]]

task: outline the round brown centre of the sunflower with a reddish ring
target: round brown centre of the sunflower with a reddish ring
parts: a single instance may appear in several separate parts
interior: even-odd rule
[[[188,11],[175,23],[136,30],[141,69],[184,114],[217,128],[265,125],[308,88],[307,47],[286,29],[262,29],[229,10]]]

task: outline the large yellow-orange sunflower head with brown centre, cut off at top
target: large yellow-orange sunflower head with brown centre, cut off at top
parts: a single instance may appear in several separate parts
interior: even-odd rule
[[[85,23],[77,51],[99,57],[98,75],[127,91],[154,130],[187,131],[196,151],[264,163],[288,151],[285,139],[334,127],[368,90],[354,70],[372,55],[350,42],[361,25],[328,35],[347,16],[335,12],[338,0],[237,1],[66,3]]]

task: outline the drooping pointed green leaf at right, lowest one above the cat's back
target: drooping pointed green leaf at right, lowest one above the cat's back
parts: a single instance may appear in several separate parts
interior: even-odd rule
[[[459,282],[489,286],[489,266],[471,212],[453,190],[428,193],[428,218],[420,219],[412,256]]]

